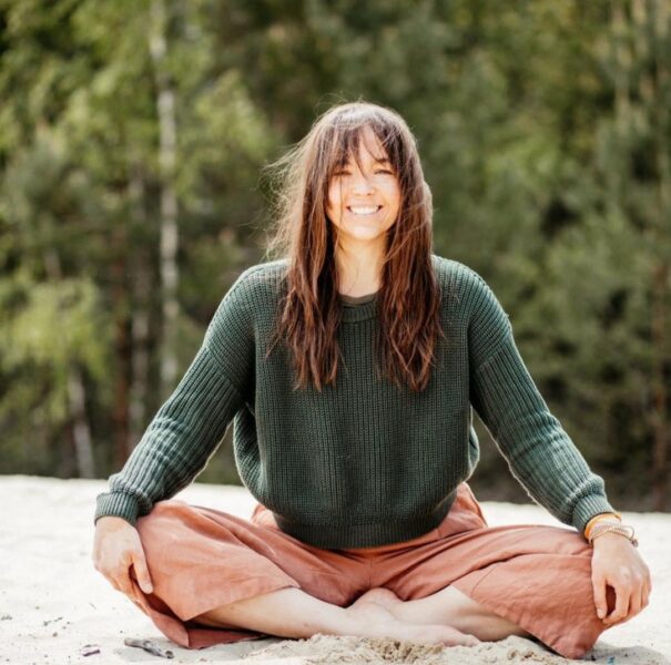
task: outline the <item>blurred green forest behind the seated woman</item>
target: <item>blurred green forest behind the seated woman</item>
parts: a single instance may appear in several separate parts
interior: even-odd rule
[[[263,166],[363,99],[620,509],[668,510],[668,0],[0,0],[0,473],[123,464],[246,267]],[[480,422],[482,500],[528,501]],[[240,483],[230,427],[199,480]]]

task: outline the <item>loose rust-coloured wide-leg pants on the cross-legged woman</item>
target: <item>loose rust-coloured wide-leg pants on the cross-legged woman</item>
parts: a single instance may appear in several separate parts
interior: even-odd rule
[[[490,528],[467,483],[433,531],[409,541],[346,550],[308,545],[281,531],[256,504],[251,521],[179,500],[138,520],[154,590],[133,577],[136,605],[173,642],[203,648],[265,637],[193,618],[295,586],[345,607],[374,586],[416,600],[453,585],[516,623],[550,649],[579,658],[606,626],[591,584],[591,548],[575,530],[536,524]],[[614,594],[609,589],[609,612]]]

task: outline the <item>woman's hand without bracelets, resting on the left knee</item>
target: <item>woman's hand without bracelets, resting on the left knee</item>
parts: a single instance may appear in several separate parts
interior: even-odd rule
[[[136,596],[133,593],[131,566],[142,591],[153,591],[140,534],[122,518],[106,515],[95,522],[93,565],[114,589],[133,602],[136,602]]]

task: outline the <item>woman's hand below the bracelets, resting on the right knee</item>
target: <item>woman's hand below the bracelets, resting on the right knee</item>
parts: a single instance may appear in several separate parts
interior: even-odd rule
[[[628,538],[603,533],[593,541],[592,586],[599,618],[608,627],[624,623],[648,605],[652,583],[650,570]],[[616,592],[616,606],[606,616],[606,586]]]

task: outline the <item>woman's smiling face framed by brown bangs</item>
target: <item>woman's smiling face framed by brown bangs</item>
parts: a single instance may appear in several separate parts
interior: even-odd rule
[[[370,127],[359,143],[359,168],[353,158],[328,185],[326,214],[342,241],[384,238],[400,208],[400,185],[387,154]]]

